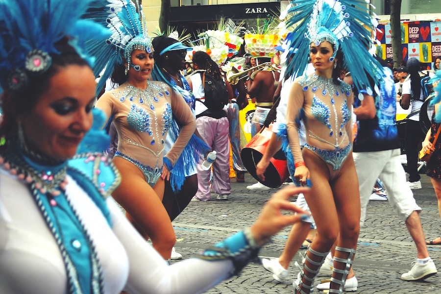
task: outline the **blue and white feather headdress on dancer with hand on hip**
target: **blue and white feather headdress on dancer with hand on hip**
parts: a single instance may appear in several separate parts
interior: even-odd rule
[[[126,71],[129,66],[140,70],[139,66],[131,63],[133,50],[151,52],[151,39],[147,36],[144,13],[138,1],[135,2],[136,5],[131,0],[95,0],[85,15],[87,19],[106,25],[112,32],[105,42],[91,40],[87,44],[91,52],[97,55],[94,73],[96,76],[101,75],[97,91],[105,85],[115,65],[124,62],[123,58],[127,62]]]

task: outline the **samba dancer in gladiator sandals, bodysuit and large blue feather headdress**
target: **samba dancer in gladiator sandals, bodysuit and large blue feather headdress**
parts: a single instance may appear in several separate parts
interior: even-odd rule
[[[363,88],[369,79],[378,82],[382,77],[381,66],[368,52],[375,22],[365,1],[291,3],[294,15],[287,25],[295,28],[287,43],[298,51],[288,61],[286,75],[300,77],[291,88],[286,127],[294,158],[293,180],[303,185],[311,180],[311,192],[305,198],[318,229],[295,281],[296,293],[310,293],[338,235],[330,293],[342,293],[357,247],[360,199],[352,158],[353,93],[341,76],[350,71],[354,84]],[[308,62],[315,73],[303,76]],[[303,150],[298,140],[300,120],[306,129]]]

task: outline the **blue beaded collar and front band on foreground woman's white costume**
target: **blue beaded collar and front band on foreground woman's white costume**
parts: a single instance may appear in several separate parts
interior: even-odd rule
[[[27,153],[10,142],[0,166],[29,189],[63,258],[70,294],[103,293],[102,271],[95,245],[66,197],[67,162],[37,164],[43,156]],[[36,157],[35,157],[36,156]]]

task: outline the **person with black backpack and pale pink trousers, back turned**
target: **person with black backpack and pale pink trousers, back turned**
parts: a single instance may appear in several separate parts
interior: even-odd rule
[[[231,194],[229,178],[229,123],[223,106],[233,98],[230,84],[223,78],[219,66],[203,51],[193,54],[193,69],[195,72],[187,76],[187,80],[196,98],[196,129],[208,146],[217,152],[213,163],[212,189],[218,200],[228,200]],[[197,192],[195,200],[209,201],[210,174],[201,168],[201,162],[196,166]]]

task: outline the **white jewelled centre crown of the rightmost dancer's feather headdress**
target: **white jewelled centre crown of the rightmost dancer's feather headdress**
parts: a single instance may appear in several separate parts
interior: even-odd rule
[[[307,25],[305,37],[310,39],[311,43],[319,46],[327,41],[332,44],[334,54],[329,61],[334,61],[337,51],[340,48],[340,42],[344,37],[352,37],[349,26],[351,25],[347,18],[349,13],[345,13],[345,5],[335,0],[318,0],[314,4],[311,22]]]

